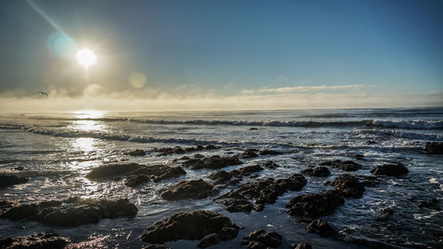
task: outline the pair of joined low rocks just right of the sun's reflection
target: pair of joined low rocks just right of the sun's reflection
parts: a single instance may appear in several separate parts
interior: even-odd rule
[[[166,165],[144,166],[137,163],[109,164],[92,169],[86,178],[89,180],[103,180],[120,175],[128,175],[125,184],[135,187],[150,180],[159,182],[164,179],[185,175],[182,167],[169,167]]]

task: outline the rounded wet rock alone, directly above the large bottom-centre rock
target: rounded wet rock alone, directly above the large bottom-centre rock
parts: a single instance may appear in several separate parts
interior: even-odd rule
[[[206,183],[205,181],[190,180],[183,181],[175,184],[167,189],[167,191],[161,192],[161,198],[169,200],[177,200],[184,198],[206,198],[217,191],[214,191],[213,185]]]

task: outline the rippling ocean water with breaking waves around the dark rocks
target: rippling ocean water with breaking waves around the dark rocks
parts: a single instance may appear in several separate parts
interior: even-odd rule
[[[77,228],[58,228],[35,221],[0,219],[0,239],[52,231],[69,237],[72,248],[140,248],[144,229],[169,214],[211,210],[226,215],[243,229],[235,239],[210,248],[240,247],[242,237],[253,230],[276,231],[281,248],[307,242],[314,248],[365,248],[346,243],[346,238],[385,242],[400,247],[426,248],[443,239],[443,214],[418,207],[421,201],[443,199],[443,156],[424,152],[428,142],[443,142],[443,108],[327,109],[217,112],[81,111],[75,113],[0,114],[0,174],[29,177],[27,183],[0,189],[0,198],[19,203],[50,199],[128,198],[138,208],[134,218],[104,219]],[[159,155],[158,149],[212,144],[216,150]],[[129,156],[141,149],[146,155]],[[220,194],[201,199],[171,201],[159,193],[183,180],[203,179],[217,169],[183,167],[186,175],[158,183],[128,187],[123,180],[90,181],[85,175],[95,167],[117,162],[182,166],[184,155],[199,153],[233,156],[248,149],[272,150],[275,155],[241,158],[239,167],[273,161],[279,167],[243,177],[238,184],[221,187]],[[243,183],[272,177],[280,179],[316,167],[327,160],[352,160],[361,169],[345,172],[329,167],[330,176],[305,175],[301,191],[287,191],[251,214],[229,213],[213,199]],[[407,175],[381,176],[371,168],[401,163]],[[18,170],[17,167],[24,167]],[[338,175],[376,176],[378,184],[366,187],[362,198],[346,198],[322,219],[336,228],[342,239],[307,233],[306,225],[286,212],[291,198],[333,189],[325,185]],[[385,208],[393,214],[385,221],[377,216]],[[168,242],[171,248],[195,248],[198,241]],[[441,245],[441,244],[440,244]]]

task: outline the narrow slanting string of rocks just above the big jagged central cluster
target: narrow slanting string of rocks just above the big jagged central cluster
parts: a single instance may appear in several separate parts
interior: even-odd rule
[[[222,183],[235,184],[238,183],[243,178],[243,176],[252,175],[254,173],[260,172],[265,167],[274,169],[278,167],[278,165],[276,165],[276,163],[272,161],[267,161],[265,163],[262,163],[261,165],[240,167],[238,169],[234,169],[229,172],[221,170],[209,175],[208,178],[213,180],[214,184],[222,184]],[[235,179],[233,180],[232,178]]]

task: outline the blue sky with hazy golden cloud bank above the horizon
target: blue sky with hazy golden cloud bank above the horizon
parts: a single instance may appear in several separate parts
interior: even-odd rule
[[[443,1],[0,4],[3,111],[443,105]]]

